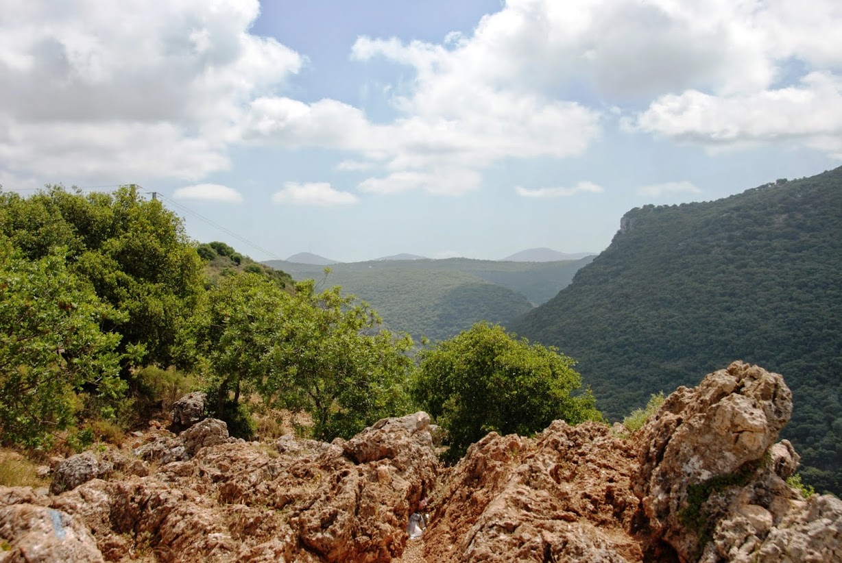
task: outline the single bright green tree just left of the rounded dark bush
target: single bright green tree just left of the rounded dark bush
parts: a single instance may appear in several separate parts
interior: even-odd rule
[[[264,390],[280,405],[310,412],[316,438],[350,438],[408,411],[412,346],[338,286],[317,293],[312,280],[301,282],[279,325]]]

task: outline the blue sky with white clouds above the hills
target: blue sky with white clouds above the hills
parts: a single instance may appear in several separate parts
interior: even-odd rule
[[[839,0],[0,0],[0,185],[257,260],[600,252],[842,165]]]

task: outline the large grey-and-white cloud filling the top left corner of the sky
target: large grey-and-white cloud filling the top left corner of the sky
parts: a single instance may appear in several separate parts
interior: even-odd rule
[[[197,179],[302,57],[248,29],[257,0],[0,0],[0,161],[19,173]]]

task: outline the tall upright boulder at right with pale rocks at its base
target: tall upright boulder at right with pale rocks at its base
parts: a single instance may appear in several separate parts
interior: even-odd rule
[[[842,554],[842,536],[832,532],[842,526],[842,503],[805,503],[784,481],[798,455],[774,441],[791,412],[781,375],[742,362],[669,396],[638,434],[634,488],[655,537],[681,560],[711,563]]]

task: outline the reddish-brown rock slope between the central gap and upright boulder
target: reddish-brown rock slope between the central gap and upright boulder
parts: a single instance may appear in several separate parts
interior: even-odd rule
[[[556,421],[537,438],[490,433],[467,451],[424,532],[434,561],[641,560],[635,454],[603,424]]]

